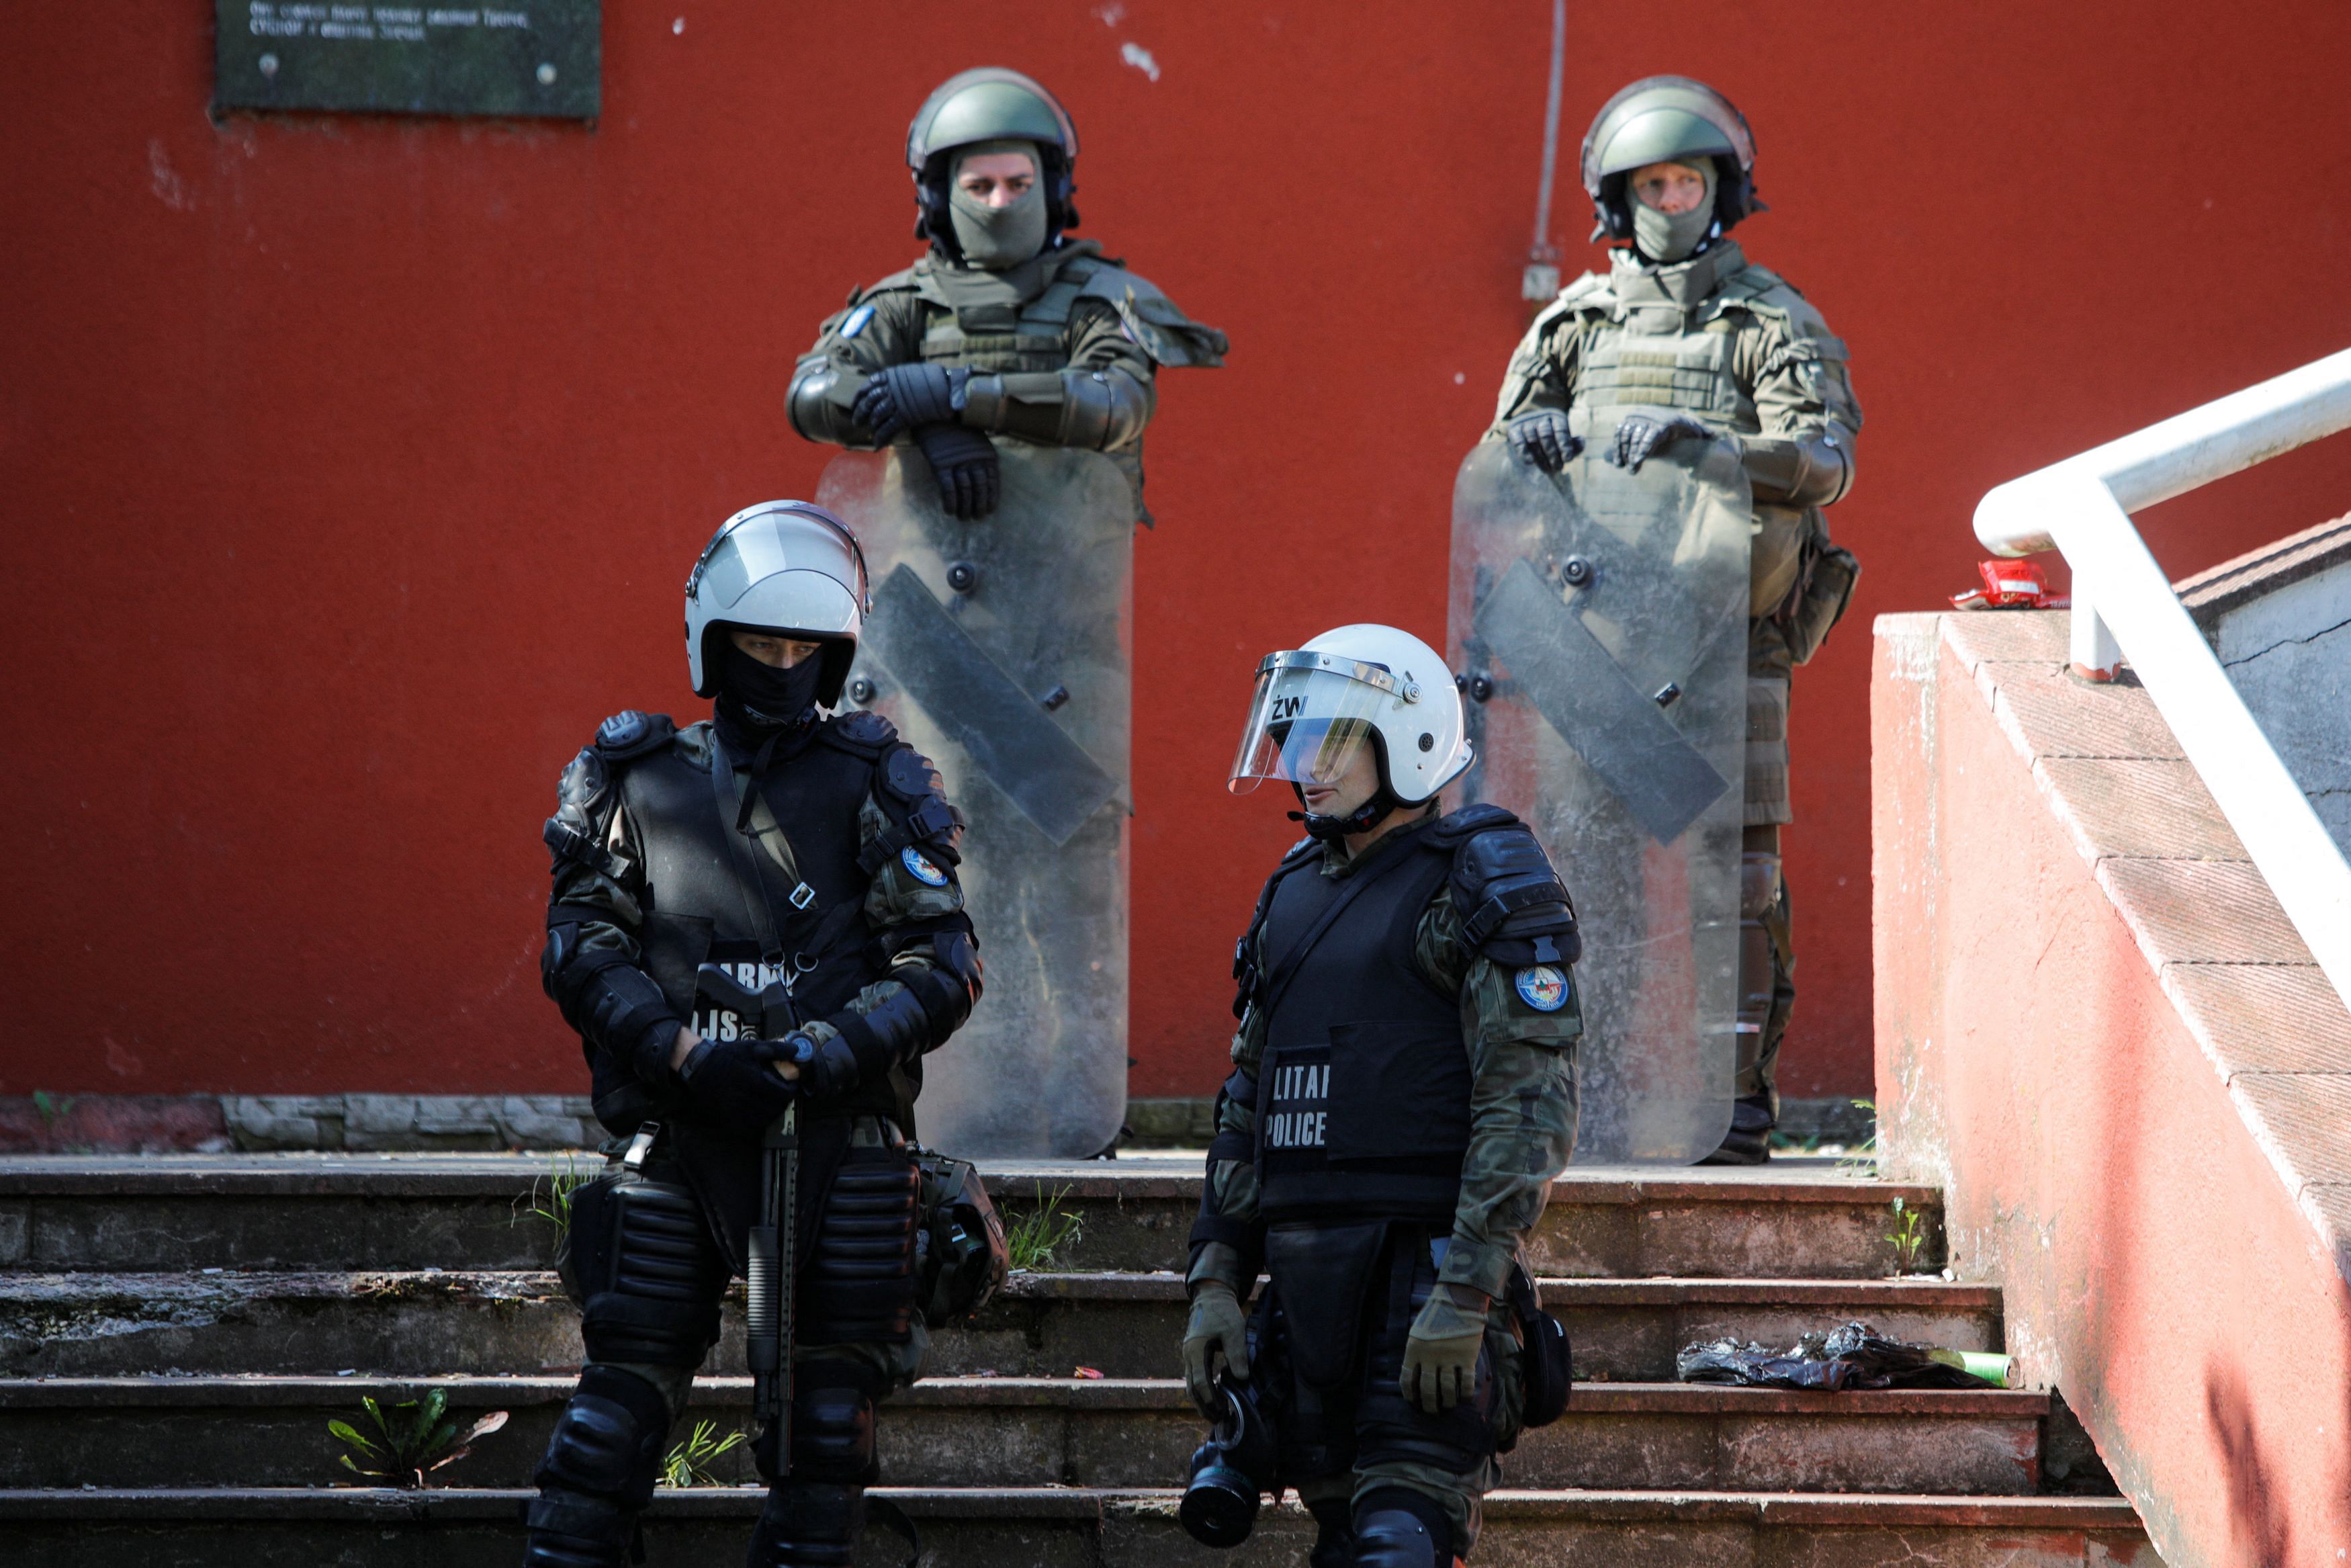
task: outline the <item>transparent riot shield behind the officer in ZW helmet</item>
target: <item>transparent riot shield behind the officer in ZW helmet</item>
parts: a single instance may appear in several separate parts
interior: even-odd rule
[[[1575,1164],[1690,1164],[1730,1128],[1747,780],[1747,475],[1681,442],[1639,475],[1481,442],[1453,487],[1467,802],[1526,818],[1582,926]]]

